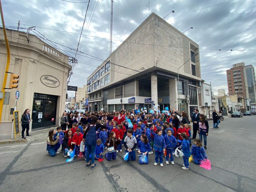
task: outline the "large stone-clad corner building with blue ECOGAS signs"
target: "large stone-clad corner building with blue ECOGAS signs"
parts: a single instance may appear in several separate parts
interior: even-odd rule
[[[160,110],[178,109],[180,103],[191,114],[201,85],[196,53],[197,43],[152,13],[87,78],[89,110],[150,109],[154,101]]]

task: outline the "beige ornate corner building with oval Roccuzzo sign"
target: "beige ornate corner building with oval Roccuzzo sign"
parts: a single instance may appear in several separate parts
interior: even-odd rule
[[[65,108],[67,78],[71,70],[69,57],[29,33],[7,30],[11,50],[9,72],[19,75],[17,89],[7,89],[10,101],[3,105],[0,134],[11,134],[15,92],[19,91],[16,111],[19,120],[30,109],[30,128],[59,125]],[[3,84],[7,51],[0,28],[0,84]],[[7,78],[9,87],[10,75]],[[20,126],[21,132],[21,126]]]

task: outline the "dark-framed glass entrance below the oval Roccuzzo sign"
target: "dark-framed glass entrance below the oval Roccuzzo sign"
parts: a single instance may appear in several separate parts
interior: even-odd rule
[[[58,96],[34,93],[32,129],[55,125]]]

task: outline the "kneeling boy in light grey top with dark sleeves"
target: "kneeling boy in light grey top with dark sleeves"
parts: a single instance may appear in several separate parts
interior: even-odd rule
[[[127,130],[127,136],[124,138],[124,147],[125,147],[125,153],[130,151],[129,156],[128,156],[128,160],[136,160],[136,154],[135,154],[135,148],[137,146],[137,140],[136,138],[133,136],[133,130],[132,129],[128,129]]]

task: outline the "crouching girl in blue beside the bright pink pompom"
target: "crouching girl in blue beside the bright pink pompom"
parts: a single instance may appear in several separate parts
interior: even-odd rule
[[[197,165],[200,164],[201,160],[207,159],[207,155],[205,154],[200,139],[194,140],[194,145],[191,148],[191,155],[193,156],[194,163]]]

